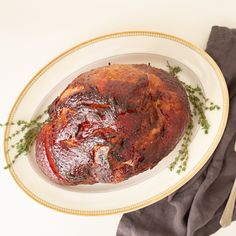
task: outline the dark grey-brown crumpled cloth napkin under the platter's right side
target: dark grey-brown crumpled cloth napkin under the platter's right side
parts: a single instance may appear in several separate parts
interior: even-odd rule
[[[117,236],[205,236],[220,228],[236,177],[236,29],[213,26],[206,51],[221,68],[229,89],[224,135],[207,164],[182,188],[153,205],[123,215]]]

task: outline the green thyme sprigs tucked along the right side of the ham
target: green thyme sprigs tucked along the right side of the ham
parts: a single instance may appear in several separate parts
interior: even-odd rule
[[[177,74],[182,71],[179,66],[171,66],[167,61],[167,68],[169,69],[169,74],[177,77]],[[182,86],[184,87],[189,102],[191,103],[191,120],[190,123],[184,133],[183,143],[181,144],[181,148],[178,151],[178,155],[175,160],[170,164],[169,169],[173,171],[176,166],[176,173],[180,174],[182,171],[185,171],[188,164],[189,159],[189,144],[191,143],[192,135],[193,135],[193,117],[197,117],[198,124],[201,126],[205,134],[208,134],[210,129],[209,121],[207,120],[205,111],[206,110],[219,110],[220,107],[215,103],[209,101],[208,98],[205,97],[202,89],[199,86],[192,87],[191,85],[180,81]]]

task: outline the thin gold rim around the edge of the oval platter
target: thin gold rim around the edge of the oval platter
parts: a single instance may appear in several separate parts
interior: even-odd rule
[[[117,214],[117,213],[125,213],[125,212],[130,212],[130,211],[134,211],[134,210],[138,210],[140,208],[143,208],[145,206],[148,206],[154,202],[157,202],[161,199],[163,199],[164,197],[170,195],[171,193],[173,193],[174,191],[176,191],[177,189],[179,189],[181,186],[183,186],[185,183],[187,183],[203,166],[204,164],[209,160],[211,154],[213,153],[213,151],[215,150],[215,148],[217,147],[218,143],[220,142],[220,139],[223,135],[225,126],[226,126],[226,122],[227,122],[227,117],[228,117],[228,111],[229,111],[229,97],[228,97],[228,90],[227,90],[227,86],[225,83],[225,79],[224,76],[222,74],[222,72],[220,71],[219,67],[217,66],[217,64],[214,62],[214,60],[201,48],[195,46],[194,44],[178,38],[176,36],[170,35],[170,34],[164,34],[164,33],[159,33],[159,32],[151,32],[151,31],[128,31],[128,32],[118,32],[118,33],[112,33],[112,34],[108,34],[108,35],[104,35],[104,36],[100,36],[97,38],[93,38],[91,40],[85,41],[83,43],[80,43],[78,45],[76,45],[75,47],[65,51],[64,53],[62,53],[61,55],[59,55],[58,57],[56,57],[55,59],[53,59],[51,62],[49,62],[45,67],[43,67],[29,82],[28,84],[25,86],[25,88],[23,89],[23,91],[20,93],[20,95],[18,96],[16,102],[13,105],[13,108],[9,114],[8,117],[8,122],[11,123],[12,119],[14,117],[15,111],[18,108],[18,105],[20,104],[21,100],[24,98],[25,94],[27,93],[27,91],[30,89],[30,87],[34,84],[35,81],[37,81],[37,79],[40,77],[41,74],[43,74],[44,72],[46,72],[51,66],[53,66],[55,63],[57,63],[58,61],[60,61],[62,58],[64,58],[65,56],[67,56],[68,54],[73,53],[74,51],[86,47],[88,45],[91,45],[93,43],[96,43],[98,41],[102,41],[102,40],[106,40],[106,39],[110,39],[110,38],[119,38],[119,37],[129,37],[129,36],[149,36],[149,37],[159,37],[159,38],[164,38],[164,39],[168,39],[168,40],[172,40],[175,42],[178,42],[180,44],[183,44],[186,47],[189,47],[190,49],[194,50],[195,52],[197,52],[198,54],[200,54],[202,57],[204,57],[206,59],[206,61],[212,66],[212,68],[214,69],[214,71],[216,72],[220,83],[221,83],[221,88],[223,91],[223,97],[224,97],[224,107],[223,107],[223,117],[221,119],[221,123],[220,123],[220,127],[218,129],[217,135],[215,136],[212,145],[209,147],[208,151],[206,152],[206,154],[203,156],[203,158],[198,162],[198,164],[190,171],[189,174],[187,174],[185,177],[183,177],[179,182],[177,182],[174,186],[169,187],[168,189],[166,189],[164,192],[162,192],[161,194],[158,194],[156,196],[153,196],[149,199],[146,199],[142,202],[133,204],[133,205],[129,205],[127,207],[122,207],[122,208],[116,208],[116,209],[108,209],[108,210],[99,210],[99,211],[82,211],[82,210],[74,210],[74,209],[68,209],[68,208],[63,208],[60,206],[56,206],[50,202],[47,202],[43,199],[40,199],[39,197],[37,197],[34,193],[32,193],[29,189],[27,189],[24,184],[18,179],[18,177],[16,176],[15,172],[14,172],[14,168],[10,167],[10,173],[13,177],[13,179],[15,180],[15,182],[17,183],[17,185],[27,194],[29,195],[32,199],[34,199],[36,202],[49,207],[51,209],[63,212],[63,213],[69,213],[69,214],[74,214],[74,215],[89,215],[89,216],[97,216],[97,215],[110,215],[110,214]],[[5,159],[6,159],[6,163],[9,164],[10,163],[10,157],[9,154],[7,152],[7,147],[8,147],[8,141],[6,141],[6,138],[9,136],[9,127],[6,127],[5,129],[5,134],[4,134],[4,153],[5,153]]]

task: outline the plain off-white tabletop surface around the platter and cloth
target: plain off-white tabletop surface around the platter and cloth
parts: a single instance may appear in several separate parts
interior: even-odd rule
[[[235,9],[235,0],[0,0],[0,121],[33,75],[75,44],[117,31],[151,30],[205,48],[212,25],[236,28]],[[47,209],[17,187],[2,169],[2,148],[0,155],[0,235],[115,236],[121,215],[81,217]],[[233,232],[236,222],[215,235]]]

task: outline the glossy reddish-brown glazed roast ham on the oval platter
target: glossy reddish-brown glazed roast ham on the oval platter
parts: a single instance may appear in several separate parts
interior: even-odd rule
[[[153,168],[190,121],[177,78],[150,65],[114,64],[79,75],[49,107],[36,161],[64,185],[118,183]]]

